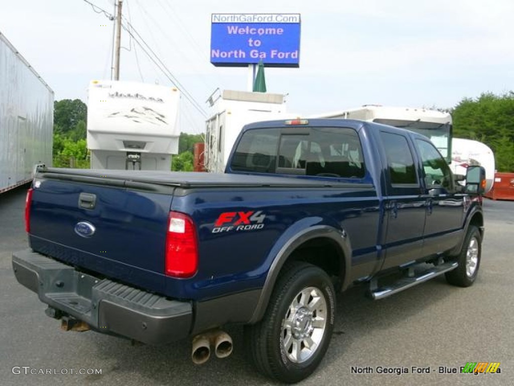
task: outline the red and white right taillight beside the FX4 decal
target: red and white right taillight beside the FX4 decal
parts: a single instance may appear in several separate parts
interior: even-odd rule
[[[191,277],[198,269],[198,240],[191,217],[170,212],[166,235],[164,273],[174,277]]]

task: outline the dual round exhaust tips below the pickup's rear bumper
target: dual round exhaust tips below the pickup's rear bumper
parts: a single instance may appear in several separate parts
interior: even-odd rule
[[[232,338],[225,331],[212,330],[193,338],[191,359],[195,364],[209,360],[211,347],[218,358],[226,358],[232,354]]]

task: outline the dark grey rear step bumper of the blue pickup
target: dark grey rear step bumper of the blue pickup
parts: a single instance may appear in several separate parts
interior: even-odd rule
[[[148,344],[189,336],[192,306],[75,270],[30,249],[12,255],[20,284],[49,306],[106,334]]]

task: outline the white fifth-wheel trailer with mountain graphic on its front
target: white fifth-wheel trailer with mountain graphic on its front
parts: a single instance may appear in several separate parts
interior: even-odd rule
[[[91,81],[87,96],[91,168],[171,170],[180,136],[179,101],[175,87]]]

